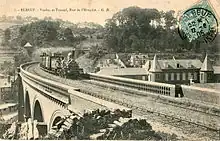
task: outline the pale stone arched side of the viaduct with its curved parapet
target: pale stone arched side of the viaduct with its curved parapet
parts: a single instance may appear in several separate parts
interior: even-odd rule
[[[54,121],[71,112],[82,115],[85,110],[94,109],[129,110],[119,104],[85,95],[74,86],[37,76],[29,71],[34,64],[28,63],[20,67],[18,118],[21,122],[29,118],[37,120],[39,125],[44,125],[41,126],[42,131],[47,132]]]

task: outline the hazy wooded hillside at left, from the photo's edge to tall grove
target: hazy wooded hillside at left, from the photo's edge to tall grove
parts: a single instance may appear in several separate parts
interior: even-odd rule
[[[0,28],[0,43],[12,48],[23,46],[27,42],[35,47],[76,47],[80,42],[93,37],[97,38],[96,36],[103,32],[103,27],[95,23],[75,24],[50,18],[19,24],[0,22],[0,27],[2,27]]]

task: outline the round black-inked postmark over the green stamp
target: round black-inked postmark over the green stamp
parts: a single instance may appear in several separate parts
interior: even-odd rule
[[[218,33],[218,21],[215,15],[205,8],[191,8],[179,19],[180,37],[192,42],[212,42]]]

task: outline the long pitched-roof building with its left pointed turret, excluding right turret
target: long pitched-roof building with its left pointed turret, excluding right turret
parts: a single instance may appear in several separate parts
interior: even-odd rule
[[[144,67],[149,71],[148,80],[172,84],[189,83],[190,79],[199,82],[202,62],[198,59],[149,60]]]

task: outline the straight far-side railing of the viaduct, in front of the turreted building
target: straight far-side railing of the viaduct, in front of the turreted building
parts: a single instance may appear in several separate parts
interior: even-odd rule
[[[90,79],[175,97],[175,85],[89,73]]]

